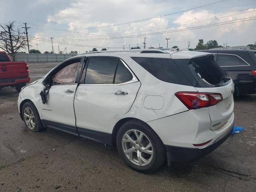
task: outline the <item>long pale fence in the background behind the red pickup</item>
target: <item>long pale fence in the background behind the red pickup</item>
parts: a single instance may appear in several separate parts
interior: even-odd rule
[[[33,54],[33,53],[17,53],[15,61],[26,62],[62,62],[76,54]]]

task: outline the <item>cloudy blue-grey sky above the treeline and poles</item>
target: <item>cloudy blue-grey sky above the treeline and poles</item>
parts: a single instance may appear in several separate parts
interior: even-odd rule
[[[50,37],[54,52],[59,46],[78,53],[143,47],[144,37],[146,48],[166,48],[166,38],[169,48],[180,49],[188,42],[195,48],[198,39],[228,46],[256,41],[256,0],[0,0],[0,5],[0,23],[27,22],[31,48],[38,44],[41,52],[52,50]]]

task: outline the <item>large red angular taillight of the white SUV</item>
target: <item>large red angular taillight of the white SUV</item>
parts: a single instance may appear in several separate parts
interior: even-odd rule
[[[220,93],[180,91],[176,92],[175,95],[188,109],[213,106],[223,100]]]

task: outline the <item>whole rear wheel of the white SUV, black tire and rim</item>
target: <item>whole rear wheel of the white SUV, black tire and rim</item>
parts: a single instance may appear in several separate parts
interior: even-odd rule
[[[164,144],[158,135],[138,120],[130,120],[121,126],[116,145],[124,162],[139,172],[154,172],[166,160]]]

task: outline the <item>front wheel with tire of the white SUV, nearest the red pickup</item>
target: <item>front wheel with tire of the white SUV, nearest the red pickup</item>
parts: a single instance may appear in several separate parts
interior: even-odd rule
[[[33,132],[44,130],[44,128],[40,126],[40,116],[36,106],[34,106],[32,102],[28,101],[24,103],[22,106],[22,116],[28,130]]]

